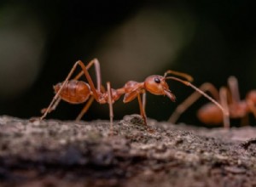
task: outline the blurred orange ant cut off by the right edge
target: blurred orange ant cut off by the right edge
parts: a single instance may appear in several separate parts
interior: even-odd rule
[[[236,77],[229,77],[228,88],[222,87],[219,89],[219,92],[218,89],[209,82],[202,84],[200,89],[203,92],[208,91],[212,94],[212,97],[224,107],[224,110],[229,111],[230,119],[241,118],[241,124],[245,124],[247,115],[250,112],[256,117],[256,90],[248,92],[246,99],[241,100]],[[177,106],[176,110],[169,118],[169,122],[177,122],[179,116],[181,116],[181,114],[200,97],[201,95],[196,92],[191,94],[183,101],[183,103]],[[216,105],[212,105],[212,103],[207,103],[206,105],[201,106],[197,112],[197,117],[205,124],[220,124],[223,122],[224,127],[230,128],[230,119],[228,116],[223,116],[223,112],[220,111]]]

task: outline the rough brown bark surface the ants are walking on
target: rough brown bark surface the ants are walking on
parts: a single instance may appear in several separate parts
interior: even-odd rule
[[[0,116],[0,186],[256,186],[256,129]]]

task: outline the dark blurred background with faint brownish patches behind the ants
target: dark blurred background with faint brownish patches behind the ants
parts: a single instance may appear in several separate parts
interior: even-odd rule
[[[98,58],[104,86],[143,82],[172,69],[194,84],[226,85],[231,75],[241,97],[256,88],[256,11],[253,1],[1,1],[0,114],[29,118],[53,98],[76,60]],[[91,71],[92,76],[94,70]],[[177,102],[147,94],[148,117],[165,121],[193,92],[169,82]],[[200,99],[178,122],[198,124]],[[84,105],[61,102],[48,118],[73,120]],[[137,100],[113,105],[114,118],[139,113]],[[108,119],[94,103],[83,120]]]

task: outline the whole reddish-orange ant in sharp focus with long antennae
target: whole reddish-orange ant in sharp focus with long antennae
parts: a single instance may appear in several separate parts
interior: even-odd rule
[[[79,72],[79,74],[72,80],[69,80],[73,75],[73,71],[75,71],[78,65],[82,68],[82,71]],[[92,65],[95,66],[96,71],[96,87],[88,72]],[[177,77],[167,77],[168,74],[183,77],[184,79],[186,79],[186,81]],[[79,78],[83,75],[86,77],[88,83],[79,81]],[[102,86],[100,63],[98,59],[92,59],[88,65],[84,65],[81,60],[77,61],[73,65],[71,71],[68,73],[65,81],[58,83],[54,86],[55,97],[52,99],[49,106],[41,111],[44,114],[40,117],[40,120],[43,120],[49,112],[54,111],[56,106],[60,103],[61,99],[71,104],[82,104],[87,101],[87,103],[84,105],[83,110],[76,118],[76,120],[80,120],[82,116],[84,116],[85,112],[88,111],[90,105],[95,99],[100,104],[108,104],[110,127],[111,129],[113,129],[113,103],[118,100],[121,95],[124,94],[124,103],[131,102],[131,100],[137,98],[140,108],[140,114],[143,117],[144,124],[147,125],[147,116],[145,112],[146,91],[155,95],[166,95],[173,102],[176,99],[175,95],[172,94],[171,90],[168,87],[168,84],[166,83],[167,79],[172,79],[177,82],[181,82],[186,86],[194,88],[196,92],[204,95],[207,99],[211,100],[212,103],[217,105],[218,108],[223,111],[225,115],[227,114],[227,112],[224,111],[224,108],[219,105],[216,100],[212,99],[212,97],[208,96],[199,88],[196,88],[192,83],[190,83],[193,80],[192,77],[185,73],[177,71],[166,71],[164,76],[149,76],[145,79],[144,82],[129,81],[125,83],[125,86],[123,88],[118,89],[111,88],[110,82],[107,82],[106,91],[105,88],[103,88]],[[141,97],[141,94],[143,95],[143,99]]]

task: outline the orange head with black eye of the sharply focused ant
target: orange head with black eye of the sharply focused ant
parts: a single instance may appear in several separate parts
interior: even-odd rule
[[[175,95],[172,94],[166,83],[166,77],[162,76],[149,76],[144,82],[144,88],[155,95],[167,95],[172,101],[175,101]]]

